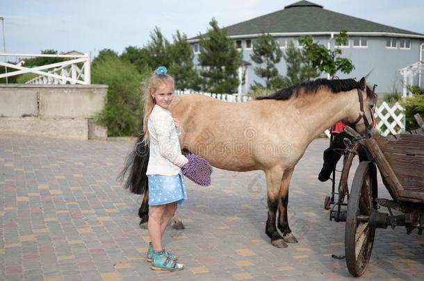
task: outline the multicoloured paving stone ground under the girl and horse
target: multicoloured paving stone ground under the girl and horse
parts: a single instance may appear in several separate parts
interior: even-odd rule
[[[316,139],[291,181],[289,223],[299,240],[270,245],[263,173],[214,169],[212,186],[186,179],[168,228],[167,250],[186,269],[149,269],[140,196],[116,182],[133,140],[71,141],[0,136],[0,280],[345,280],[344,223],[329,221],[329,182],[316,178],[327,139]],[[352,169],[354,171],[354,169]],[[351,177],[352,178],[352,177]],[[386,193],[380,187],[380,194]],[[424,238],[405,228],[377,230],[365,280],[423,280]]]

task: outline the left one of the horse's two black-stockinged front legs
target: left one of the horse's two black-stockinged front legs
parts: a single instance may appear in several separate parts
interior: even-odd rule
[[[287,244],[279,235],[275,221],[277,218],[277,209],[279,202],[279,187],[282,180],[282,172],[279,169],[265,171],[266,185],[268,191],[268,220],[266,221],[266,235],[270,237],[272,246],[277,248],[286,248]]]

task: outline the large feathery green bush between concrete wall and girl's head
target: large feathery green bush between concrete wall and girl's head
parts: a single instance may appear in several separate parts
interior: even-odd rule
[[[130,136],[140,133],[142,120],[142,80],[136,66],[117,56],[97,60],[92,66],[92,83],[109,86],[104,109],[95,121],[108,128],[109,136]]]

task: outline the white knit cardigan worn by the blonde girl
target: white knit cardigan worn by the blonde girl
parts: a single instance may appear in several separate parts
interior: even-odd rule
[[[149,164],[147,175],[175,176],[185,164],[187,157],[181,154],[177,130],[171,112],[154,105],[149,121]]]

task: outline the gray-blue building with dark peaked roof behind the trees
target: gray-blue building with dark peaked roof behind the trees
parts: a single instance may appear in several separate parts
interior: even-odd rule
[[[291,40],[295,46],[299,46],[297,39],[302,35],[311,35],[320,44],[334,49],[334,35],[344,29],[348,31],[349,40],[345,46],[340,46],[342,56],[350,58],[355,69],[348,75],[336,74],[339,78],[361,78],[372,71],[368,82],[378,85],[377,92],[402,92],[405,84],[421,87],[424,84],[421,78],[423,34],[325,10],[323,6],[309,1],[299,1],[283,10],[227,26],[225,29],[243,53],[243,60],[248,62],[244,66],[247,83],[245,87],[240,85],[238,88],[238,92],[243,94],[250,89],[254,80],[261,82],[261,78],[254,74],[255,63],[250,59],[252,45],[261,33],[270,33],[275,37],[282,51]],[[188,42],[193,46],[197,64],[199,40],[193,37]],[[280,74],[286,75],[284,60],[277,67]],[[240,80],[242,72],[240,69]]]

